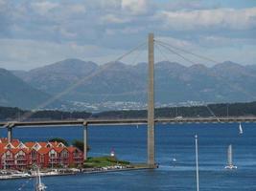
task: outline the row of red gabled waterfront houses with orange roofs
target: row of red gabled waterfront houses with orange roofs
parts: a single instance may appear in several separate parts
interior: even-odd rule
[[[0,138],[0,169],[42,168],[56,166],[79,166],[83,153],[74,146],[66,147],[62,142],[26,142],[17,139],[8,143]]]

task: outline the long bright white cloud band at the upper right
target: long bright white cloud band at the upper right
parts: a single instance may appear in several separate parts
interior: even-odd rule
[[[203,29],[247,30],[256,27],[256,8],[159,11],[155,18],[163,21],[164,29],[177,31]]]

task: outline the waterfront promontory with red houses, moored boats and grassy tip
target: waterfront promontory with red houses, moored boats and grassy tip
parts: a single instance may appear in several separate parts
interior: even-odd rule
[[[36,167],[40,176],[64,176],[79,173],[103,173],[147,168],[109,156],[83,159],[81,150],[62,142],[22,142],[0,138],[0,180],[33,178]]]

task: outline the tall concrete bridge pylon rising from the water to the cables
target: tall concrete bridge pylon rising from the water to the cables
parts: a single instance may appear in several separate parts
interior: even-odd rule
[[[148,95],[148,165],[155,167],[154,162],[154,50],[153,33],[149,34],[149,95]]]

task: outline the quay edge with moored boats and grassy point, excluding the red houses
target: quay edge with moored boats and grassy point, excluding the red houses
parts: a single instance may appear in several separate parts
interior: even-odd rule
[[[68,176],[78,174],[106,173],[129,170],[148,169],[146,163],[130,163],[126,160],[119,160],[115,157],[104,156],[84,160],[81,168],[44,168],[40,170],[40,176]],[[0,180],[16,180],[35,178],[33,170],[0,170]]]

